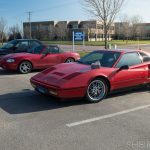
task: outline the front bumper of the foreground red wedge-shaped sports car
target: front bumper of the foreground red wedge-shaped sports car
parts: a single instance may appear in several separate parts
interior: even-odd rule
[[[59,98],[81,98],[85,96],[86,88],[85,87],[79,87],[74,89],[62,89],[59,87],[55,87],[49,84],[44,84],[42,82],[39,82],[37,80],[31,79],[30,80],[32,87],[42,93],[42,94],[48,94]]]

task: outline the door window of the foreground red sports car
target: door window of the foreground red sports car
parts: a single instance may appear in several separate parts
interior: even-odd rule
[[[126,53],[121,57],[116,67],[120,68],[121,66],[124,66],[124,65],[134,66],[140,63],[142,62],[138,53]]]

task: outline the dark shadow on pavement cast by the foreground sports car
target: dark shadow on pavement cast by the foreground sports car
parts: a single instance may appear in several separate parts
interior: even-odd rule
[[[126,92],[109,94],[104,100],[111,100],[111,98],[130,95],[137,92],[150,93],[150,88],[139,88]],[[31,113],[86,104],[89,103],[85,99],[69,99],[61,101],[58,98],[40,95],[30,89],[24,89],[18,93],[0,95],[0,108],[9,114]]]

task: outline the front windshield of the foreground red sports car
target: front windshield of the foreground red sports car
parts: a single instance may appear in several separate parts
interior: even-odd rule
[[[78,63],[91,65],[92,63],[99,61],[102,67],[111,68],[118,60],[120,54],[120,52],[113,51],[95,51],[81,58]]]

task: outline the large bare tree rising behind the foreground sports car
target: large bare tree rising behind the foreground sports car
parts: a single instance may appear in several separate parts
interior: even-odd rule
[[[97,17],[103,24],[105,48],[107,48],[108,31],[125,0],[83,0],[84,8]]]

